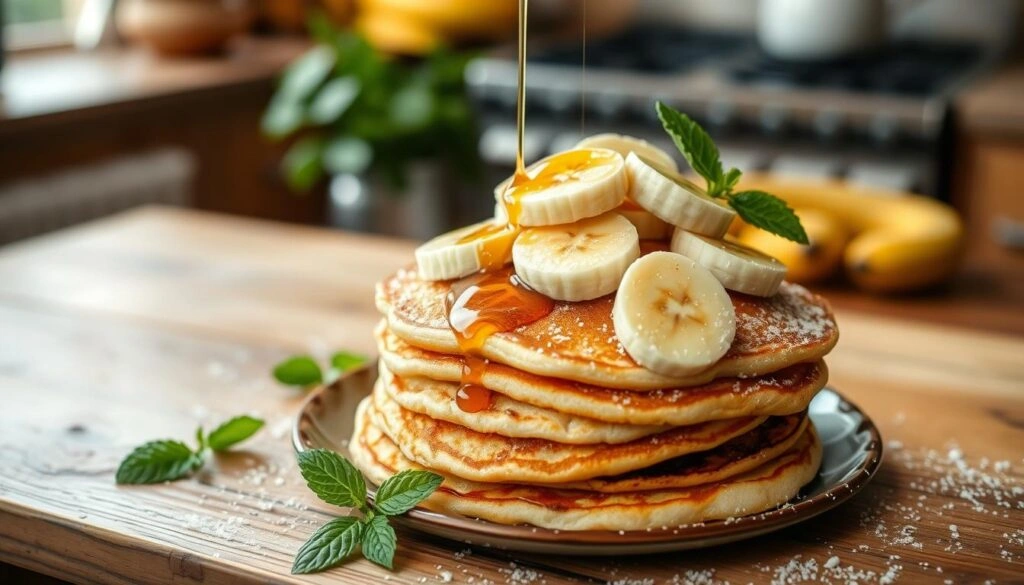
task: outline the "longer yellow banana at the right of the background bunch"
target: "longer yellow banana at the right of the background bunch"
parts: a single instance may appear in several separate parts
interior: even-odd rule
[[[964,225],[956,212],[933,199],[856,187],[843,181],[781,180],[744,176],[740,190],[773,193],[794,207],[821,209],[841,218],[852,239],[847,273],[872,292],[928,287],[956,269]]]

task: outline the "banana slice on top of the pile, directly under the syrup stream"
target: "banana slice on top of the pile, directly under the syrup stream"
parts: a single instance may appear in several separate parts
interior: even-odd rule
[[[519,225],[560,225],[618,207],[629,192],[623,157],[606,149],[552,155],[526,169],[529,180],[495,187],[498,201],[518,208]]]

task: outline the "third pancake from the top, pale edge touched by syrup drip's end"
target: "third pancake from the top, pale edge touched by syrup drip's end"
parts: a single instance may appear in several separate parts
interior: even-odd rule
[[[398,377],[388,371],[384,362],[380,363],[380,379],[383,391],[401,408],[477,432],[588,445],[629,443],[670,428],[601,422],[527,405],[499,393],[494,394],[490,408],[468,413],[456,404],[458,383]]]

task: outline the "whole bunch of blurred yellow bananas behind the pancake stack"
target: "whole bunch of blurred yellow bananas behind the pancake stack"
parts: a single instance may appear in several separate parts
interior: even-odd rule
[[[790,281],[817,282],[845,265],[861,289],[897,293],[935,285],[956,269],[964,226],[951,207],[933,199],[842,181],[791,182],[745,175],[741,187],[778,195],[800,216],[810,240],[807,246],[739,220],[730,231],[741,243],[781,260]]]

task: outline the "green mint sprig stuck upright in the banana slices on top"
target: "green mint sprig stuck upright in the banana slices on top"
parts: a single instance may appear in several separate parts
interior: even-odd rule
[[[672,136],[676,148],[686,158],[695,173],[707,182],[709,197],[724,199],[739,217],[754,225],[798,244],[807,244],[807,233],[800,218],[781,199],[763,191],[734,193],[739,169],[726,171],[722,166],[718,147],[699,124],[689,116],[658,101],[657,116],[665,131]]]

